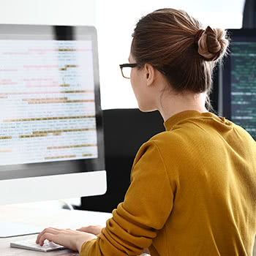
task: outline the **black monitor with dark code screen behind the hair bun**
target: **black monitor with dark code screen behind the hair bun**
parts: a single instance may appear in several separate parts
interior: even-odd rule
[[[229,29],[230,53],[219,69],[219,110],[256,140],[256,29]]]

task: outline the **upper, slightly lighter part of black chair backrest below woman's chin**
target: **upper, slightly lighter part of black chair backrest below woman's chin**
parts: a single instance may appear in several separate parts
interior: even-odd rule
[[[103,110],[105,157],[135,157],[140,146],[165,130],[158,111],[137,108]]]

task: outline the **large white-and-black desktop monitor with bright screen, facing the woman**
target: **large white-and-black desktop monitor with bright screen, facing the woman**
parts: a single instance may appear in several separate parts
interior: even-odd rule
[[[94,27],[0,25],[0,108],[1,205],[106,192]]]

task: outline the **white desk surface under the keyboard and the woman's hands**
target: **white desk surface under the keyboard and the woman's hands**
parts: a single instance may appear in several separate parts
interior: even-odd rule
[[[37,227],[59,227],[76,229],[87,225],[103,225],[112,214],[94,211],[69,211],[52,208],[28,208],[27,206],[0,206],[0,221],[18,222],[35,225]],[[0,238],[0,255],[4,256],[36,256],[42,252],[34,252],[10,247],[10,241],[23,240],[26,237],[37,235],[20,236],[15,238]],[[78,256],[76,252],[61,250],[47,252],[45,256]]]

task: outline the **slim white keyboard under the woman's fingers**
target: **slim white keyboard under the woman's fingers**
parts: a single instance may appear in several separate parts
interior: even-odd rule
[[[20,249],[29,249],[33,251],[39,251],[39,252],[51,252],[59,249],[65,249],[64,246],[55,244],[48,240],[45,240],[44,245],[40,246],[39,244],[36,244],[35,238],[33,239],[27,238],[26,240],[11,242],[10,246],[15,248],[20,248]]]

